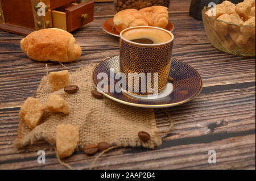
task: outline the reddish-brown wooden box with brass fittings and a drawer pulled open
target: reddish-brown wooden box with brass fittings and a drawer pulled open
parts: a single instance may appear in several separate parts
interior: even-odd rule
[[[93,0],[80,2],[0,0],[0,30],[25,36],[32,31],[52,27],[71,32],[93,21]]]

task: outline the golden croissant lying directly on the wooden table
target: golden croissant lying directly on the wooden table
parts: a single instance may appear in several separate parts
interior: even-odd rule
[[[71,62],[81,56],[81,47],[71,33],[57,28],[34,31],[20,41],[22,51],[36,61]]]

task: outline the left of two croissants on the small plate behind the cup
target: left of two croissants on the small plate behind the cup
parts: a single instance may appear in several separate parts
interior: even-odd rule
[[[117,30],[118,33],[129,27],[148,26],[143,14],[136,9],[119,11],[115,14],[113,21],[115,30]]]

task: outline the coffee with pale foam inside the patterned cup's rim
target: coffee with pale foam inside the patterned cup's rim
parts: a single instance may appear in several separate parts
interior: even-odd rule
[[[124,39],[141,44],[160,44],[172,39],[172,36],[159,29],[135,28],[122,33]]]

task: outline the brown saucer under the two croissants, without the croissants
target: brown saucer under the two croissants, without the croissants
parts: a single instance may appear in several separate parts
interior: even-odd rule
[[[120,37],[119,33],[115,30],[113,18],[109,18],[109,19],[105,20],[105,22],[102,23],[101,27],[106,33],[109,33],[109,35]],[[167,24],[166,28],[164,28],[164,29],[172,32],[174,30],[174,24],[172,24],[172,22],[168,21],[168,24]]]

